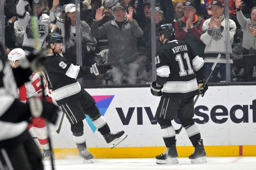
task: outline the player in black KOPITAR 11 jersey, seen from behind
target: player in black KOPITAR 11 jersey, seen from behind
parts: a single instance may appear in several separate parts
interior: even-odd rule
[[[156,156],[156,163],[179,163],[175,129],[171,122],[176,113],[195,147],[188,158],[191,163],[206,163],[203,139],[193,119],[194,97],[199,93],[204,96],[208,89],[207,85],[202,88],[204,60],[195,54],[191,45],[174,39],[175,30],[172,24],[161,25],[158,33],[163,46],[156,52],[156,81],[151,84],[151,93],[162,96],[156,115],[166,149],[164,153]]]

